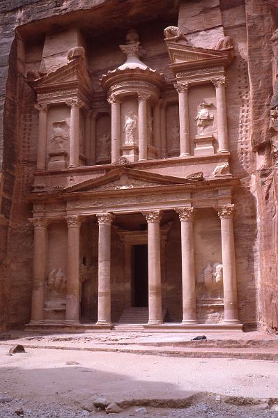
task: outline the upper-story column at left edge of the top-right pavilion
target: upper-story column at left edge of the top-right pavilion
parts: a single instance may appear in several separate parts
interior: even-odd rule
[[[190,117],[188,113],[188,83],[174,84],[178,91],[180,118],[180,157],[190,155]]]

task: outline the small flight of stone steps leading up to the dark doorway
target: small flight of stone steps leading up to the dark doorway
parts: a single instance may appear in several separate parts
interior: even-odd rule
[[[166,315],[167,309],[162,309],[162,320]],[[144,324],[148,323],[148,308],[128,308],[114,325],[115,331],[141,332],[144,331]]]

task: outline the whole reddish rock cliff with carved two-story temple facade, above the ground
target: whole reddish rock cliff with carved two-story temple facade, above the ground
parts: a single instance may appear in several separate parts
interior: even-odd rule
[[[0,330],[277,332],[278,4],[0,11]]]

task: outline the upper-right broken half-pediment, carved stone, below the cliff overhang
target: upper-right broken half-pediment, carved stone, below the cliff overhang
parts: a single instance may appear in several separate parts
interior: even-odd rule
[[[215,65],[227,65],[231,61],[231,54],[228,51],[218,49],[206,49],[193,47],[191,45],[167,42],[168,54],[171,66],[179,68],[196,68]]]

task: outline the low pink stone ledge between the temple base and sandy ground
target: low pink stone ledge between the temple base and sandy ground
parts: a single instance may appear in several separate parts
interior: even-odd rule
[[[200,333],[153,332],[11,332],[0,346],[15,343],[25,348],[82,350],[167,357],[237,358],[278,361],[278,336],[261,332],[207,332],[206,340],[192,340]]]

